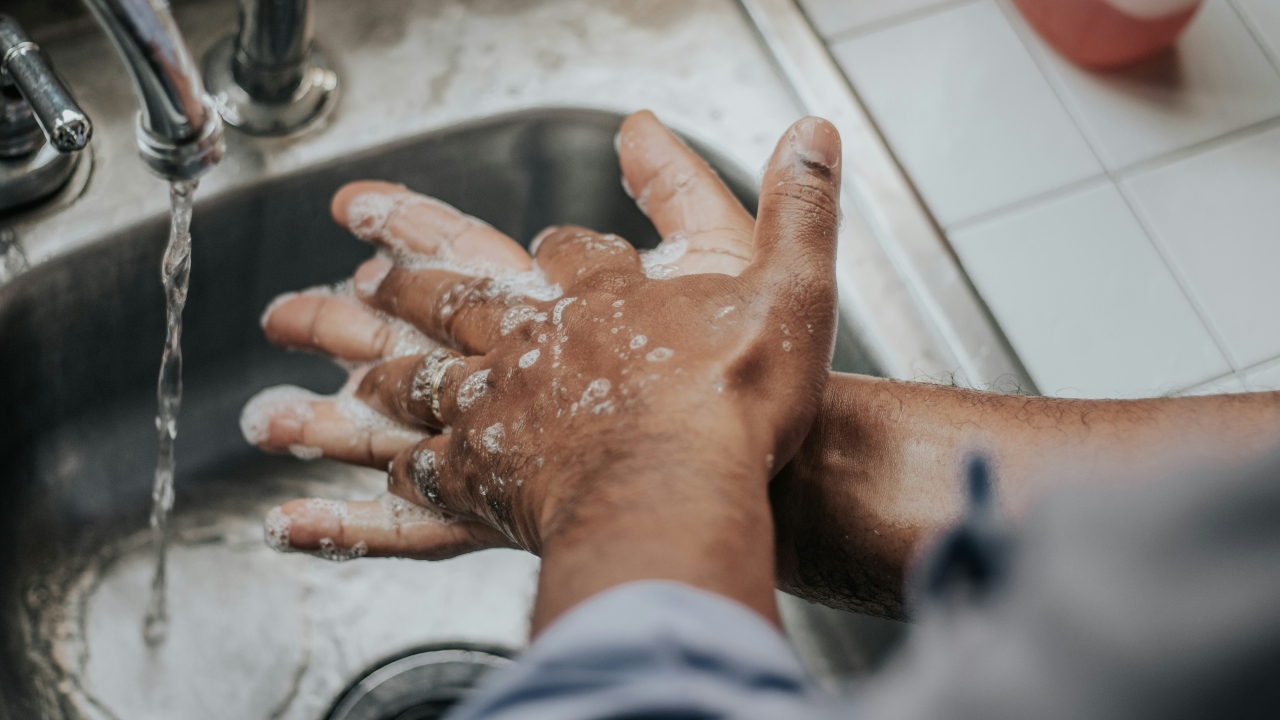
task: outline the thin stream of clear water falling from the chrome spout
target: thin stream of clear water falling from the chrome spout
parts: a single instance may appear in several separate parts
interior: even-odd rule
[[[191,279],[191,209],[197,181],[169,183],[169,245],[160,266],[166,307],[164,355],[156,382],[156,430],[160,454],[151,487],[151,530],[155,534],[156,570],[151,578],[151,603],[142,625],[147,644],[164,642],[169,630],[169,601],[165,593],[165,556],[169,553],[169,511],[173,510],[173,441],[178,437],[178,407],[182,405],[182,309]]]

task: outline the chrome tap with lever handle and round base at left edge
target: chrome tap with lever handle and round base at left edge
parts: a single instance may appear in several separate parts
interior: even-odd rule
[[[92,133],[40,47],[0,14],[0,213],[67,184]]]

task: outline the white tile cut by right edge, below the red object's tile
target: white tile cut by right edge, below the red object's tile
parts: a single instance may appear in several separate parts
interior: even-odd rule
[[[1236,366],[1280,355],[1280,129],[1124,181]]]

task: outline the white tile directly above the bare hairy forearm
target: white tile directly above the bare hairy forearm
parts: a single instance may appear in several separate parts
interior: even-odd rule
[[[1044,395],[1157,396],[1231,370],[1110,182],[951,242]]]

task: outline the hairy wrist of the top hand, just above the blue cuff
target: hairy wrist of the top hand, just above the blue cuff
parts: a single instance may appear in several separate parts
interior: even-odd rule
[[[684,437],[646,434],[643,451],[548,503],[535,633],[598,592],[644,579],[716,592],[777,621],[763,459],[748,461],[741,441],[722,433]]]

